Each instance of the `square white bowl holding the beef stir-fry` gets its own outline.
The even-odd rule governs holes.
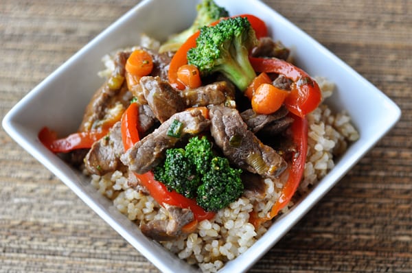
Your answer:
[[[272,248],[393,127],[400,118],[400,108],[328,49],[264,3],[258,0],[216,2],[227,8],[231,15],[251,13],[259,16],[276,40],[281,40],[286,47],[293,49],[292,54],[299,67],[312,76],[320,75],[334,82],[336,91],[328,99],[328,104],[334,110],[347,110],[361,135],[306,198],[279,217],[247,252],[229,261],[220,270],[244,272]],[[165,3],[162,0],[141,1],[21,99],[3,119],[3,128],[159,270],[196,272],[196,269],[142,235],[133,222],[113,207],[111,201],[91,187],[88,178],[49,152],[37,138],[43,126],[49,126],[61,136],[77,130],[85,106],[102,84],[97,72],[103,69],[101,58],[104,54],[138,44],[141,33],[162,40],[168,34],[188,27],[196,16],[197,1],[174,0],[173,5],[168,5],[168,12],[164,12]],[[250,9],[251,6],[253,9]]]

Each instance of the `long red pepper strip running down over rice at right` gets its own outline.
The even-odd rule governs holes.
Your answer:
[[[256,228],[263,222],[273,219],[290,202],[304,175],[306,155],[308,154],[308,121],[296,115],[290,116],[295,119],[291,126],[295,151],[293,152],[292,163],[286,170],[288,171],[288,180],[282,188],[279,199],[273,204],[271,211],[266,217],[259,218],[256,213],[251,213],[249,222]]]

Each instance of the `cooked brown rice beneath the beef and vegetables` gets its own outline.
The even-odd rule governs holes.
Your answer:
[[[323,78],[317,78],[317,82],[323,98],[330,97],[334,85]],[[299,186],[300,193],[316,185],[334,167],[334,156],[343,154],[347,145],[359,137],[346,112],[334,114],[325,104],[321,104],[307,118],[308,157],[304,178]],[[93,175],[91,183],[107,198],[111,198],[113,205],[137,226],[152,219],[168,219],[165,209],[150,195],[128,186],[126,176],[121,171],[105,176]],[[227,261],[235,259],[252,246],[270,226],[271,222],[266,222],[255,230],[249,223],[249,213],[253,207],[260,217],[264,217],[282,189],[281,181],[266,179],[265,183],[268,195],[264,200],[241,197],[218,211],[214,219],[200,222],[196,232],[161,244],[187,263],[198,265],[203,272],[218,271]]]

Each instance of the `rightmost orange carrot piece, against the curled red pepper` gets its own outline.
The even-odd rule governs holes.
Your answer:
[[[252,108],[258,114],[271,114],[282,106],[288,95],[288,91],[279,89],[273,84],[260,84],[253,94]]]

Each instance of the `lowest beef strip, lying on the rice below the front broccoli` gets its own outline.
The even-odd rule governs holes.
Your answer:
[[[168,211],[167,220],[154,219],[140,226],[141,232],[156,241],[169,241],[176,239],[181,233],[181,228],[193,221],[194,215],[190,209],[164,204]]]

